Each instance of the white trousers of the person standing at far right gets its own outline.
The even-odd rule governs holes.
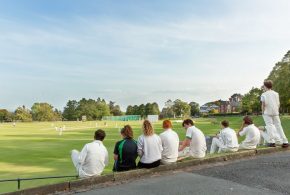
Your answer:
[[[288,143],[288,139],[285,136],[283,127],[281,125],[280,117],[279,116],[270,116],[270,115],[263,115],[267,134],[269,136],[269,143],[275,143],[275,137],[278,135],[279,142]]]

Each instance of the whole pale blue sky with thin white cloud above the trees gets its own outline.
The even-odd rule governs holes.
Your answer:
[[[227,99],[290,49],[289,18],[287,0],[1,0],[0,108]]]

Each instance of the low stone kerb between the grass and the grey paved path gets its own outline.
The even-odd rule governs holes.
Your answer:
[[[197,165],[211,164],[224,162],[228,160],[237,160],[246,157],[263,155],[273,152],[287,151],[290,148],[260,148],[257,150],[244,150],[237,153],[225,153],[219,156],[209,156],[204,159],[184,159],[181,162],[171,164],[171,165],[162,165],[154,169],[136,169],[127,172],[114,173],[109,175],[91,177],[71,182],[63,182],[59,184],[52,184],[48,186],[40,186],[36,188],[30,188],[25,190],[20,190],[16,192],[6,193],[5,195],[33,195],[33,194],[52,194],[56,192],[75,190],[87,186],[103,184],[106,182],[121,182],[134,178],[139,178],[147,175],[152,175],[154,173],[165,172],[165,171],[174,171],[183,169],[186,167],[192,167]]]

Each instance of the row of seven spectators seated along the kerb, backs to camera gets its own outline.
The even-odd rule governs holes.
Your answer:
[[[160,164],[176,163],[186,157],[204,158],[207,145],[204,133],[198,129],[191,119],[183,121],[186,130],[185,139],[180,142],[178,134],[172,130],[170,120],[163,121],[164,131],[158,136],[150,121],[142,124],[143,134],[134,140],[130,125],[124,126],[114,149],[113,171],[128,171],[136,168],[154,168]],[[262,129],[261,129],[262,130]],[[260,143],[260,131],[249,116],[243,118],[241,129],[236,133],[229,127],[229,122],[221,122],[221,131],[212,138],[210,154],[215,152],[237,152],[239,149],[255,149]],[[266,133],[263,131],[263,133]],[[239,145],[238,136],[245,136]],[[84,146],[81,152],[72,151],[72,161],[79,177],[100,175],[108,165],[108,151],[103,145],[106,133],[99,129],[95,132],[94,141]],[[137,158],[140,158],[136,164]]]

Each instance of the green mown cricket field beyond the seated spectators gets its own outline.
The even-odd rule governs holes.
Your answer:
[[[195,119],[196,126],[205,135],[214,135],[220,129],[219,117]],[[242,117],[227,117],[231,127],[238,130]],[[256,125],[263,125],[262,117],[254,117]],[[94,131],[104,129],[107,137],[104,141],[110,155],[110,164],[104,174],[111,173],[113,166],[113,149],[116,141],[120,140],[119,129],[130,124],[134,129],[135,138],[141,134],[141,122],[32,122],[0,123],[0,180],[12,178],[43,177],[75,175],[76,171],[70,159],[72,149],[81,150],[84,144],[91,142]],[[154,124],[156,133],[161,133],[162,122]],[[63,135],[59,136],[55,126],[66,126]],[[181,123],[173,122],[174,130],[180,140],[185,137],[185,130]],[[290,117],[282,117],[282,125],[287,137],[290,137]],[[98,127],[96,127],[98,126]],[[52,184],[68,179],[49,179],[21,182],[21,188],[28,188],[44,184]],[[17,189],[16,182],[0,183],[0,193]]]

